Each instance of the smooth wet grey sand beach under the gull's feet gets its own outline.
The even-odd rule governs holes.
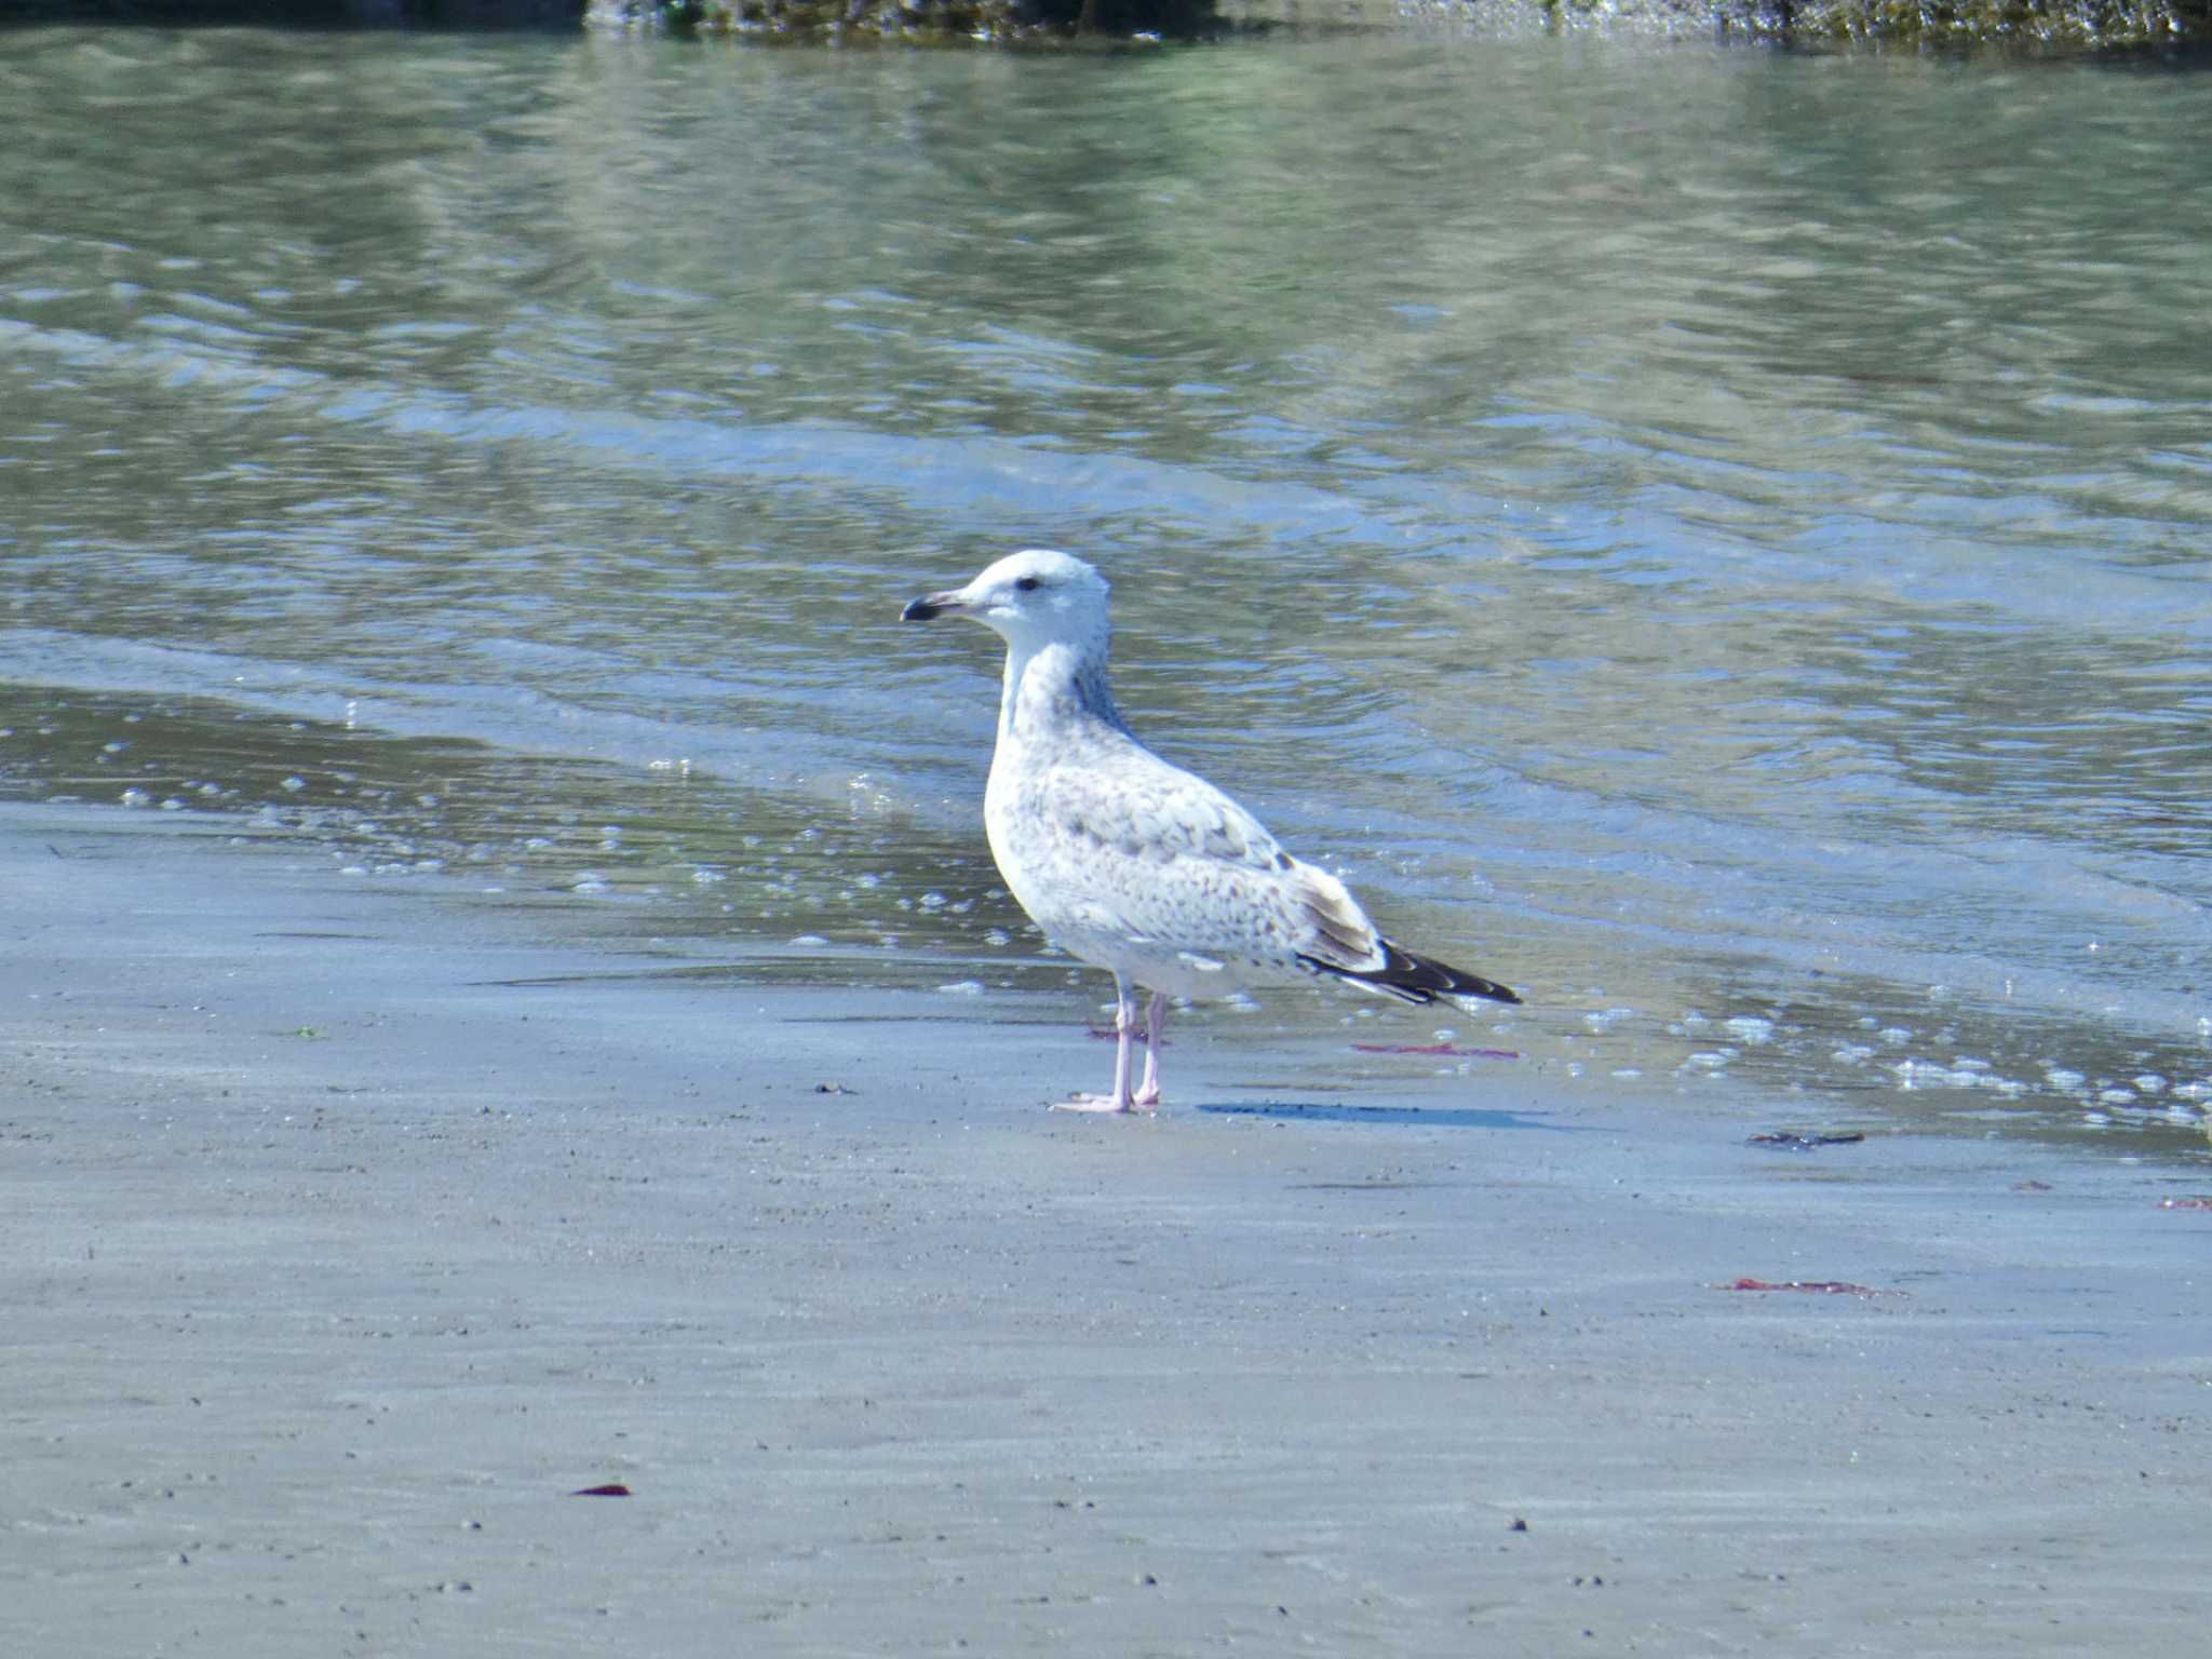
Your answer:
[[[184,814],[4,807],[0,894],[0,1652],[2203,1639],[2188,1170],[1203,1029],[1060,1117],[1091,998],[655,978]]]

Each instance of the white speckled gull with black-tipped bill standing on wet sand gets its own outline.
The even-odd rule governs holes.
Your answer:
[[[1159,1106],[1168,998],[1329,975],[1400,1002],[1520,1002],[1495,980],[1391,945],[1336,876],[1139,743],[1106,688],[1106,595],[1084,560],[1026,549],[900,611],[902,622],[969,617],[1006,641],[982,801],[991,856],[1046,938],[1113,973],[1117,1004],[1113,1093],[1062,1108]],[[1130,1086],[1139,989],[1152,1000],[1144,1079]]]

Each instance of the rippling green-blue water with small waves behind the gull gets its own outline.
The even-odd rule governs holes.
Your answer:
[[[1528,993],[1462,1037],[2201,1146],[2212,80],[55,29],[0,104],[13,792],[1057,987],[896,613],[1060,544],[1139,730]]]

